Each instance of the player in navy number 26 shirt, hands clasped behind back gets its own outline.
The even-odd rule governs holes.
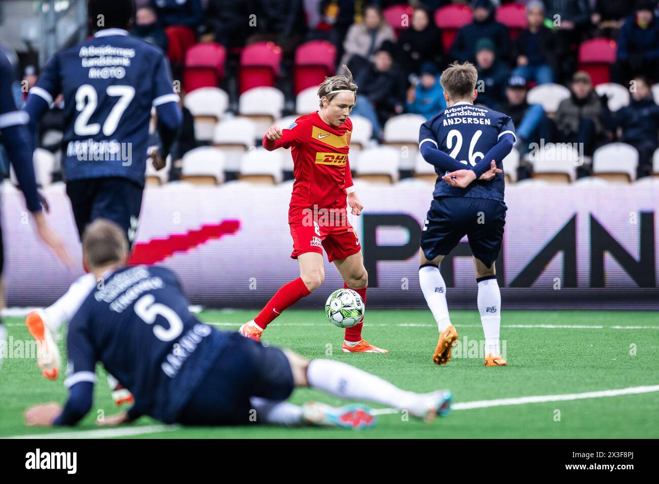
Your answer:
[[[421,233],[418,269],[421,290],[440,331],[433,355],[437,365],[449,362],[458,338],[439,265],[465,235],[474,256],[485,365],[507,365],[499,348],[501,293],[494,261],[501,250],[507,210],[501,161],[515,144],[515,126],[509,116],[473,105],[477,77],[470,63],[454,63],[442,72],[447,109],[419,130],[419,149],[438,173]]]

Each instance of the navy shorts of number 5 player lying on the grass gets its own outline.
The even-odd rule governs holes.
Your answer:
[[[250,398],[286,400],[295,383],[279,348],[235,333],[177,419],[183,425],[241,425],[254,421]],[[252,419],[250,420],[250,417]]]

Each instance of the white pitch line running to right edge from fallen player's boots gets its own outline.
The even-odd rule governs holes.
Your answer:
[[[476,400],[475,402],[458,402],[451,405],[451,410],[471,410],[473,408],[502,407],[544,402],[565,402],[567,400],[585,400],[586,398],[604,398],[605,396],[634,395],[639,393],[659,392],[659,385],[646,387],[629,387],[619,390],[600,390],[596,392],[565,393],[558,395],[520,396],[517,398],[498,398],[497,400]],[[376,415],[398,414],[395,408],[376,408]]]

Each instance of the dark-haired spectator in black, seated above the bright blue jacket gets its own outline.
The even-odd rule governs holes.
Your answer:
[[[398,39],[397,63],[407,75],[419,74],[425,61],[442,65],[442,32],[430,18],[430,13],[416,7],[409,28],[403,30]]]

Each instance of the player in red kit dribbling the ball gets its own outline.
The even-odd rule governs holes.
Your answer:
[[[345,75],[326,78],[318,88],[320,109],[288,126],[271,126],[263,138],[264,148],[291,148],[295,183],[289,207],[293,254],[300,277],[282,286],[260,313],[240,328],[243,336],[260,340],[268,324],[325,279],[323,249],[339,269],[345,288],[355,290],[366,304],[368,275],[355,229],[347,219],[347,205],[360,215],[350,173],[348,151],[353,123],[348,118],[357,99],[357,84],[345,67]],[[345,330],[343,352],[387,353],[362,338],[362,325]]]

